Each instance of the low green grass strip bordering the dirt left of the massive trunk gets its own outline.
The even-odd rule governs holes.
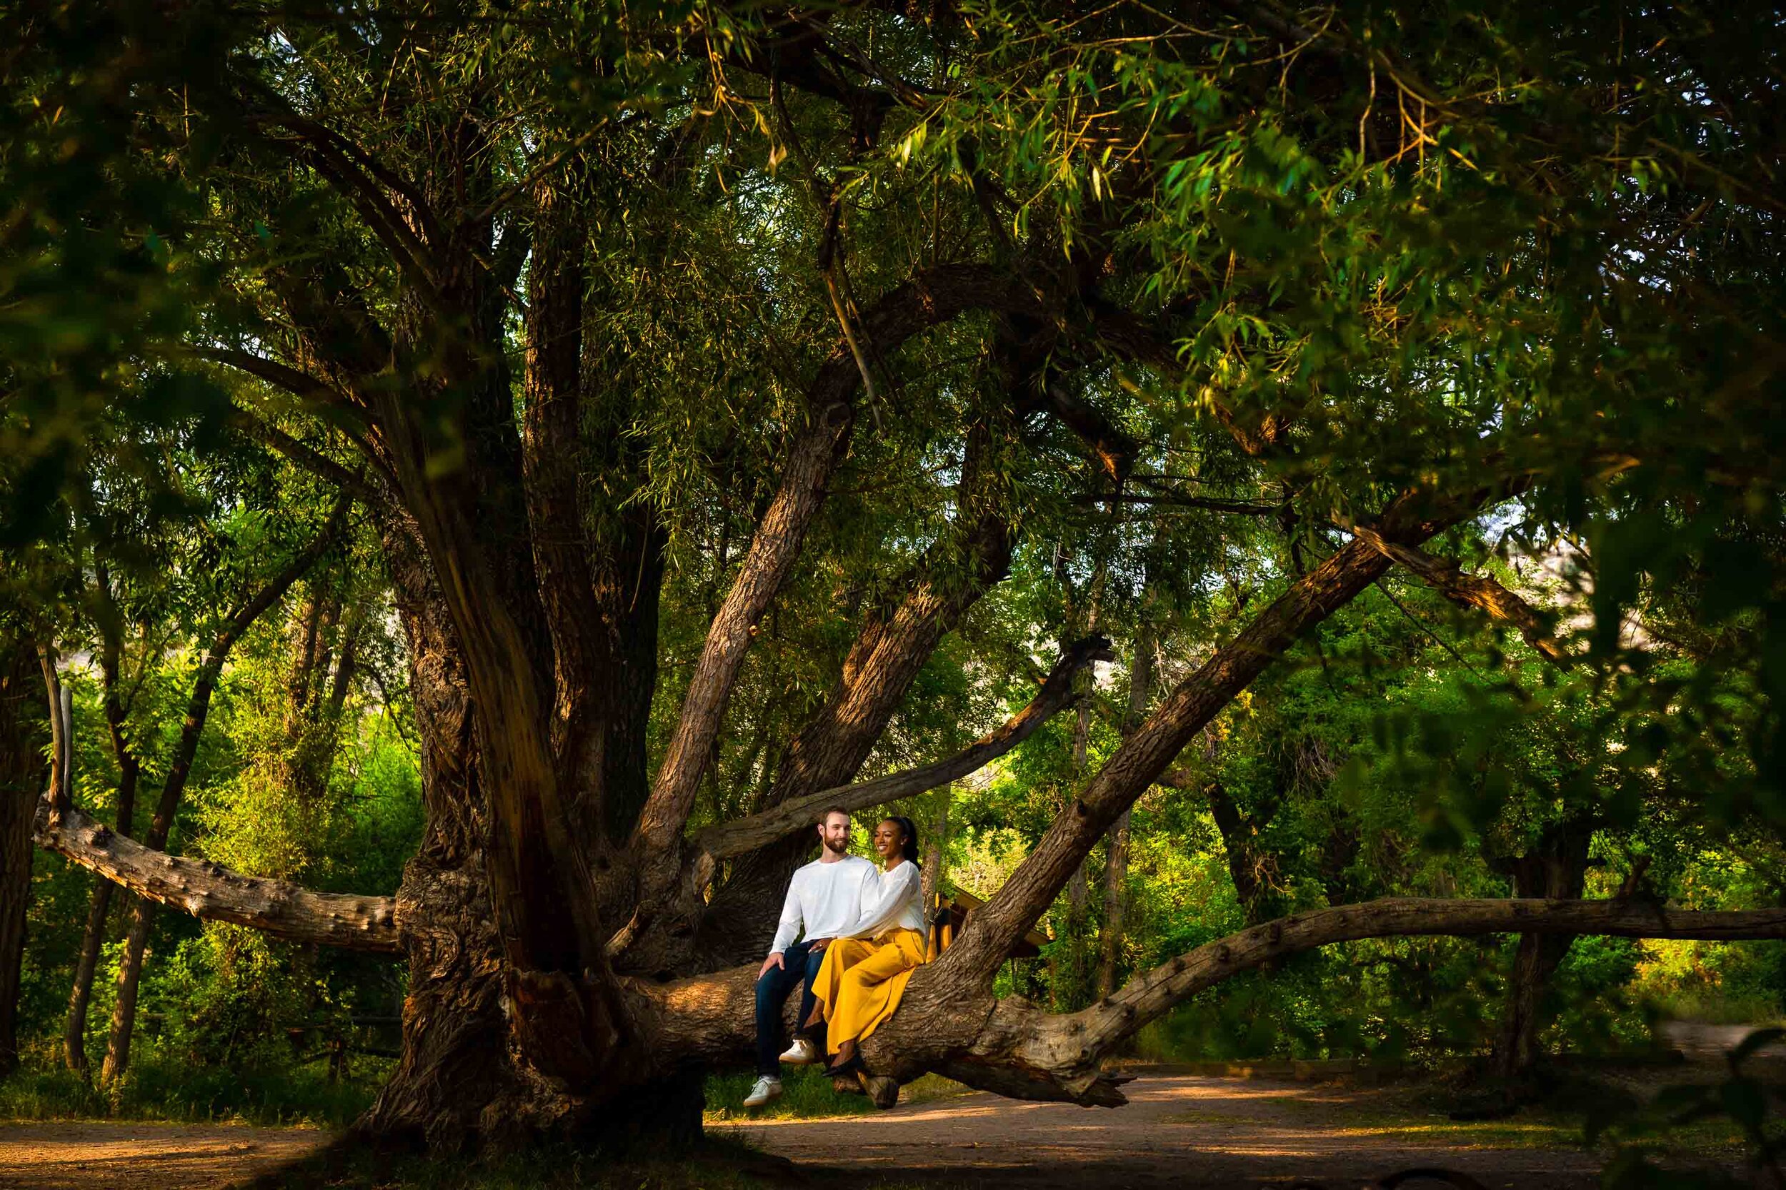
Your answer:
[[[120,1087],[93,1087],[50,1051],[27,1054],[0,1081],[0,1120],[168,1120],[343,1128],[371,1106],[388,1072],[364,1062],[355,1078],[330,1083],[320,1067],[284,1062],[205,1067],[145,1047]]]

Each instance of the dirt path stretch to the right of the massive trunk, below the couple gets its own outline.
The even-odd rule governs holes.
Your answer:
[[[1443,1117],[1409,1128],[1404,1115],[1391,1126],[1386,1115],[1373,1117],[1386,1092],[1189,1076],[1143,1076],[1125,1090],[1131,1103],[1114,1111],[975,1094],[868,1117],[736,1128],[750,1144],[802,1167],[848,1170],[854,1183],[870,1174],[904,1183],[1093,1190],[1309,1179],[1352,1190],[1384,1174],[1438,1165],[1497,1190],[1598,1185],[1600,1158],[1593,1153],[1522,1147],[1556,1145],[1547,1129],[1522,1135],[1509,1126],[1466,1140]],[[1397,1106],[1406,1111],[1406,1101]],[[1422,1131],[1434,1136],[1422,1140]]]

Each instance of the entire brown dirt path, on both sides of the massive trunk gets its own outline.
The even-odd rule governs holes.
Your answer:
[[[1518,1117],[1459,1128],[1416,1088],[1141,1074],[1114,1111],[973,1094],[829,1120],[716,1124],[793,1160],[807,1185],[1141,1190],[1356,1190],[1413,1167],[1481,1185],[1588,1190],[1600,1156]],[[323,1131],[50,1122],[0,1124],[5,1190],[220,1190],[320,1149]],[[1413,1181],[1407,1190],[1441,1183]]]

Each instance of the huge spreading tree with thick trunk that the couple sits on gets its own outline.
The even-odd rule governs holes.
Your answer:
[[[1327,942],[1779,937],[1786,912],[1379,901],[1263,922],[1073,1015],[991,992],[1202,728],[1390,567],[1550,640],[1427,542],[1497,517],[1604,544],[1595,612],[1616,628],[1657,566],[1632,533],[1716,573],[1732,521],[1777,523],[1777,464],[1745,428],[1779,387],[1772,20],[32,11],[5,59],[18,277],[63,293],[113,275],[71,244],[121,244],[154,316],[95,303],[116,332],[80,359],[182,378],[198,421],[261,426],[371,512],[427,805],[393,901],[164,856],[66,801],[38,839],[202,917],[402,951],[373,1133],[695,1129],[697,1072],[748,1047],[738,963],[814,810],[957,780],[1070,705],[1100,639],[1043,657],[982,740],[889,771],[920,673],[1014,560],[1084,537],[1086,508],[1159,503],[1197,517],[1148,530],[1150,574],[1248,567],[1261,594],[913,979],[864,1047],[879,1099],[943,1070],[1120,1103],[1098,1063],[1136,1028]],[[93,193],[20,180],[34,168]],[[132,214],[152,173],[175,191]],[[68,382],[39,330],[18,332],[21,450],[39,478],[79,475],[114,378]],[[18,498],[29,528],[46,498]],[[1766,621],[1770,591],[1723,614]],[[1607,673],[1625,648],[1590,646]],[[800,678],[773,715],[738,698],[764,673]],[[1716,733],[1700,710],[1677,746]],[[745,719],[788,733],[722,821],[714,756]],[[1757,742],[1741,780],[1773,789],[1773,764]]]

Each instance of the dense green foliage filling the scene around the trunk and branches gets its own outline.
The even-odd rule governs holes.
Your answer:
[[[570,211],[575,516],[589,541],[638,517],[663,541],[652,758],[839,335],[950,266],[1041,294],[1045,316],[970,309],[854,351],[857,428],[755,630],[693,826],[764,805],[852,640],[922,580],[961,614],[863,776],[1013,714],[1063,640],[1097,630],[1120,657],[1082,719],[900,806],[989,896],[1259,608],[1402,494],[1468,494],[1431,551],[1523,596],[1572,664],[1391,571],[1134,806],[1116,981],[1306,908],[1507,896],[1565,839],[1586,840],[1588,896],[1779,903],[1770,5],[841,5],[807,21],[827,54],[798,57],[804,20],[73,0],[7,18],[0,632],[63,653],[80,806],[116,822],[107,689],[129,690],[143,826],[220,624],[345,525],[230,653],[170,847],[396,888],[421,771],[386,528],[354,494],[384,482],[363,467],[386,426],[293,310],[398,328],[377,375],[416,394],[418,469],[473,489],[495,448],[464,430],[479,394],[454,369],[477,359],[523,417],[527,300]],[[461,118],[484,173],[448,184],[429,136]],[[398,182],[341,164],[361,150]],[[429,321],[457,293],[418,280],[411,241],[434,232],[380,221],[343,177],[375,178],[393,211],[421,205],[402,178],[461,203],[452,234],[477,239],[466,259],[495,294],[477,319]],[[325,382],[293,391],[266,360]],[[988,537],[1009,555],[993,582]],[[1088,858],[1043,958],[1000,990],[1097,999],[1111,855]],[[21,997],[39,1067],[59,1060],[91,887],[39,856]],[[123,928],[114,913],[95,1044]],[[1134,1047],[1479,1056],[1515,947],[1311,953],[1204,992]],[[150,956],[148,1049],[118,1110],[341,1119],[352,1095],[318,1087],[363,1094],[386,1069],[404,994],[388,960],[175,913]],[[1779,1017],[1786,947],[1577,940],[1548,996],[1547,1047],[1643,1049],[1666,1013]],[[29,1111],[32,1094],[0,1103]]]

